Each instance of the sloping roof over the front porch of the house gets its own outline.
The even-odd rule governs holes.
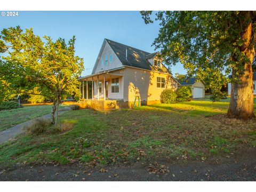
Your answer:
[[[80,77],[78,78],[78,81],[95,81],[97,80],[97,76],[99,78],[99,81],[103,80],[104,76],[105,79],[109,79],[109,78],[115,78],[115,77],[122,77],[123,75],[118,75],[118,74],[113,74],[111,72],[119,70],[119,69],[123,69],[124,67],[119,67],[119,68],[115,68],[113,70],[105,70],[105,71],[100,71],[99,73],[95,73],[95,74],[91,74],[91,75],[87,75],[84,77]]]

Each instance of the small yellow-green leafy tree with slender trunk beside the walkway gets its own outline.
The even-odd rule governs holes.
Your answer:
[[[62,38],[55,42],[49,36],[43,38],[34,35],[32,28],[23,33],[19,26],[10,27],[1,32],[0,50],[6,53],[2,59],[12,63],[10,72],[19,72],[14,78],[22,79],[23,89],[38,87],[37,93],[53,100],[52,124],[56,125],[62,95],[79,94],[77,78],[84,68],[83,59],[75,56],[75,36],[68,44]]]

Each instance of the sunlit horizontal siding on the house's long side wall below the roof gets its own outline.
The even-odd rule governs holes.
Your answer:
[[[156,87],[156,77],[165,77],[165,89],[177,89],[177,82],[171,75],[154,71],[126,67],[124,75],[124,101],[134,101],[135,96],[140,96],[141,101],[160,100],[160,94],[164,88]]]

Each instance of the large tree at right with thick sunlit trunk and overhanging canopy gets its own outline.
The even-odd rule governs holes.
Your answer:
[[[145,23],[151,11],[141,11]],[[153,45],[166,63],[181,62],[219,92],[232,74],[229,117],[253,118],[252,63],[256,11],[159,11],[161,29]]]

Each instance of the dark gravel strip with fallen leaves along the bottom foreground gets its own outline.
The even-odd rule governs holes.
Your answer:
[[[256,181],[256,149],[211,161],[89,168],[85,164],[0,168],[1,181]]]

